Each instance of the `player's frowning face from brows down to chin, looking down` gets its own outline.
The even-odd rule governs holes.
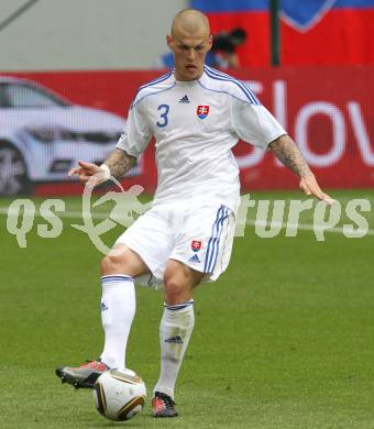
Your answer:
[[[168,35],[167,44],[174,54],[177,80],[196,80],[204,73],[204,63],[211,46],[211,36]]]

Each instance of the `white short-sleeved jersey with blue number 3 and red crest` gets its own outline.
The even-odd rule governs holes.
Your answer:
[[[153,205],[201,199],[237,211],[239,168],[231,148],[239,139],[266,148],[285,133],[248,86],[206,66],[198,80],[177,81],[169,73],[143,85],[117,147],[138,157],[155,136]]]

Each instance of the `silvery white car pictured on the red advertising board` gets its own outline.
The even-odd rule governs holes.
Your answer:
[[[69,180],[78,160],[102,163],[124,124],[116,114],[70,105],[30,80],[0,76],[0,195]]]

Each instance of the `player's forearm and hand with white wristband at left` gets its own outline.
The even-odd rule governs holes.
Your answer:
[[[114,148],[100,167],[92,163],[78,161],[79,166],[72,168],[69,176],[78,176],[82,184],[91,180],[91,184],[95,186],[108,180],[110,176],[116,178],[122,177],[135,164],[136,158],[128,155],[121,148]]]

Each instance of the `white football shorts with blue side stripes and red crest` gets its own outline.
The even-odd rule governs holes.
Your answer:
[[[167,204],[142,215],[116,245],[124,244],[147,265],[152,276],[142,276],[141,283],[160,284],[168,260],[206,273],[209,282],[229,265],[234,230],[235,216],[221,204]]]

